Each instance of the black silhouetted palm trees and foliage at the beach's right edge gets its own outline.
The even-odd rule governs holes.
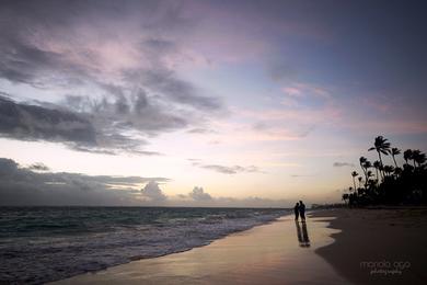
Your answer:
[[[378,160],[371,162],[359,158],[360,173],[353,171],[353,186],[343,194],[343,201],[349,206],[427,204],[427,164],[426,153],[418,149],[392,147],[382,136],[376,137],[373,147]],[[400,166],[396,157],[403,155],[405,163]],[[384,164],[389,157],[391,164]]]

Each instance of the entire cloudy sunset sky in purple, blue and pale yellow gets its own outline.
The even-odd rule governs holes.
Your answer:
[[[339,202],[376,136],[427,150],[426,8],[1,1],[0,204]]]

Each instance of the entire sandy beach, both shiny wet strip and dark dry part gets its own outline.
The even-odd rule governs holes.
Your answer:
[[[423,284],[425,229],[423,209],[319,210],[305,228],[289,215],[201,248],[55,284]],[[385,274],[386,262],[399,269]]]

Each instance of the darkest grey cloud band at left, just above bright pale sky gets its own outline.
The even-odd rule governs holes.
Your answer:
[[[72,101],[74,106],[86,104],[78,96],[68,100]],[[66,110],[54,104],[46,105],[49,107],[18,103],[0,96],[0,136],[23,140],[60,141],[71,149],[93,153],[115,155],[117,151],[127,151],[158,156],[161,153],[141,149],[141,146],[147,144],[142,138],[124,133],[130,127],[159,132],[173,128],[176,121],[180,122],[174,117],[168,121],[166,115],[158,117],[155,110],[147,110],[143,115],[129,114],[123,117],[115,110],[115,103],[108,102],[90,106],[93,112],[95,110],[99,112],[95,116],[93,113]]]

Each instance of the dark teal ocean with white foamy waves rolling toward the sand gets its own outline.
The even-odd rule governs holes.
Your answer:
[[[287,209],[0,207],[0,283],[41,284],[210,243]]]

